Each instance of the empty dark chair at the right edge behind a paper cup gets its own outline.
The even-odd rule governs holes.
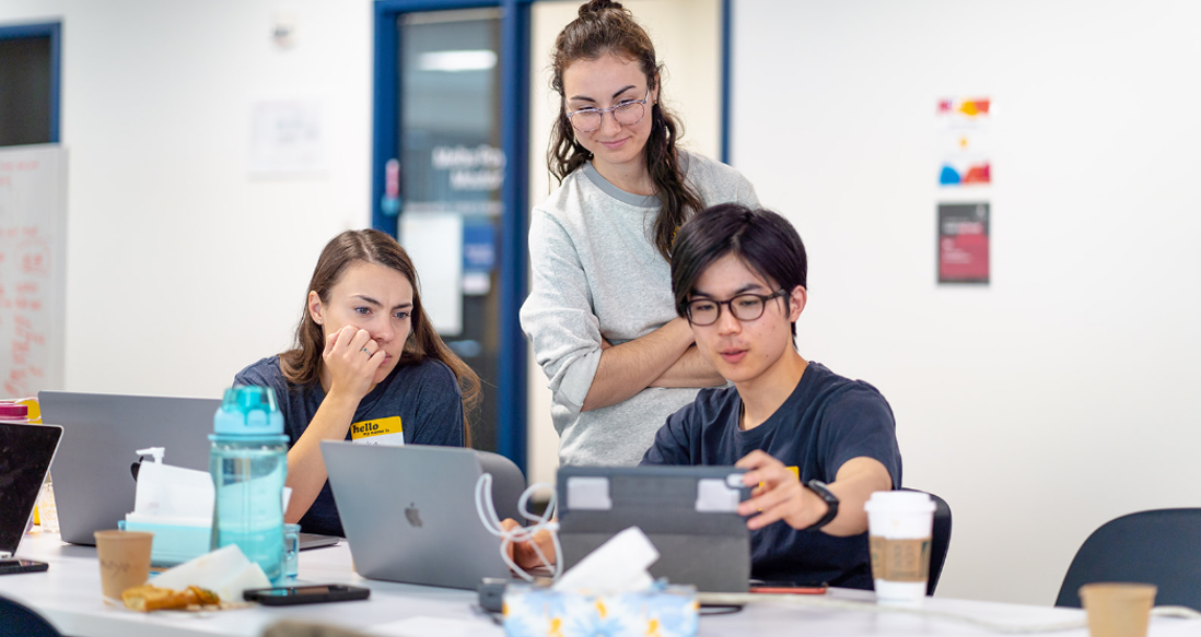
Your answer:
[[[1068,566],[1056,606],[1080,608],[1080,587],[1143,582],[1157,606],[1201,611],[1201,509],[1158,509],[1101,524]]]

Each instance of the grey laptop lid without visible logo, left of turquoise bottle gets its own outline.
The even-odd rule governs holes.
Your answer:
[[[95,545],[133,510],[137,450],[166,449],[163,462],[207,471],[213,415],[220,398],[42,391],[42,422],[62,426],[50,467],[62,540]]]

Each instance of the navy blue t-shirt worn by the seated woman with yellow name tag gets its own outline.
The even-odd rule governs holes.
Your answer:
[[[325,391],[318,381],[309,385],[288,383],[280,369],[279,356],[269,356],[238,372],[234,383],[275,389],[280,411],[283,413],[288,449],[300,439],[325,399]],[[352,422],[393,416],[400,416],[406,445],[464,446],[462,393],[454,372],[441,361],[426,359],[418,365],[398,366],[359,401]],[[346,439],[351,439],[349,431]],[[340,537],[346,535],[329,480],[300,518],[300,529]]]

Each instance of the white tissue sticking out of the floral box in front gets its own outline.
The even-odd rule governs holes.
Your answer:
[[[635,593],[655,583],[646,569],[659,559],[650,537],[631,527],[585,555],[555,582],[556,593]]]

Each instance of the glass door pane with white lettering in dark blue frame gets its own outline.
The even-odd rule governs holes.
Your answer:
[[[422,300],[447,344],[479,374],[476,449],[497,447],[501,350],[498,240],[501,12],[466,8],[396,17],[398,149],[383,208],[422,277]]]

